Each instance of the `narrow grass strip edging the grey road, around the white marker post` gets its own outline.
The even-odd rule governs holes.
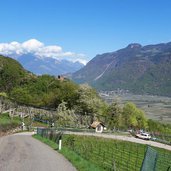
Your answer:
[[[58,149],[57,144],[47,138],[43,138],[40,135],[33,135],[33,137],[49,145],[54,150]],[[58,152],[65,156],[65,158],[67,158],[79,171],[103,171],[102,168],[92,164],[90,161],[85,160],[80,155],[66,147],[62,147],[62,150]]]

